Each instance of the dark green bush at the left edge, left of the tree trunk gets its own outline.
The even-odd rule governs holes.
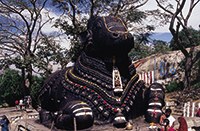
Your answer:
[[[15,104],[15,100],[23,98],[21,76],[19,71],[7,69],[0,83],[0,104]]]

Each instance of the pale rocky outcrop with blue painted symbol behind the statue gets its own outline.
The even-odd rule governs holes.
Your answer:
[[[187,50],[189,51],[189,48]],[[195,50],[200,50],[200,46],[195,47]],[[153,71],[156,60],[155,81],[165,85],[174,80],[183,80],[184,71],[180,68],[180,62],[184,58],[183,53],[178,50],[154,54],[145,59],[134,61],[133,63],[138,65],[136,66],[137,74],[142,74]]]

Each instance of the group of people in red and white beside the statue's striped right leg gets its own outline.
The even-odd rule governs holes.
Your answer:
[[[161,131],[188,131],[187,122],[184,117],[178,117],[179,128],[174,129],[175,118],[171,115],[171,109],[166,109],[165,114],[160,117]]]

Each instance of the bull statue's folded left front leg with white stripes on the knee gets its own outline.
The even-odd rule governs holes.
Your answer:
[[[67,103],[55,118],[56,127],[68,130],[73,130],[74,124],[78,130],[89,128],[93,125],[93,122],[92,109],[88,104],[81,101]]]

